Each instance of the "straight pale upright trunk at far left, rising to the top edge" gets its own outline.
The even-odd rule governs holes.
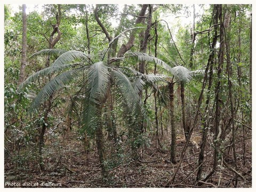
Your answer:
[[[26,5],[22,5],[22,47],[21,47],[21,66],[18,85],[25,80],[25,67],[27,63],[27,14]]]

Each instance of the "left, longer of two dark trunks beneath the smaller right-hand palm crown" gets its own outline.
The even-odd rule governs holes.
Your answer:
[[[176,127],[175,127],[175,115],[174,115],[174,83],[169,83],[169,99],[170,99],[170,117],[171,117],[171,162],[176,163]]]

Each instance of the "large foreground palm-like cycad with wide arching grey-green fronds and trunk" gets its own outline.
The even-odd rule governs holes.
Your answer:
[[[74,83],[78,86],[78,91],[74,95],[71,111],[81,110],[81,132],[87,133],[90,137],[96,135],[96,143],[99,155],[99,162],[102,175],[107,173],[104,165],[103,134],[102,134],[102,108],[107,100],[109,92],[115,94],[115,102],[122,108],[122,117],[125,125],[131,126],[135,123],[134,117],[143,114],[142,102],[139,92],[143,86],[154,84],[157,81],[165,81],[164,75],[145,75],[127,67],[116,67],[113,63],[125,61],[147,61],[154,62],[172,71],[164,61],[159,60],[146,53],[127,52],[121,58],[111,58],[107,61],[103,57],[92,57],[80,51],[63,50],[42,50],[33,56],[40,54],[57,54],[59,57],[50,67],[42,69],[31,75],[23,82],[19,89],[28,83],[35,81],[39,77],[51,75],[53,78],[45,84],[43,89],[37,94],[30,106],[31,112],[38,111],[39,107],[53,93],[60,90],[66,84]],[[55,76],[54,76],[55,75]],[[156,89],[156,86],[151,86]]]

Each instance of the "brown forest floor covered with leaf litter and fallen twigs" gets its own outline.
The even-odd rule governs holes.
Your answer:
[[[5,159],[5,187],[76,187],[76,188],[108,188],[108,187],[221,187],[235,186],[234,160],[230,155],[223,156],[228,166],[218,162],[217,169],[204,183],[196,185],[199,146],[193,141],[189,143],[180,169],[173,182],[170,179],[177,169],[172,164],[170,151],[160,151],[155,145],[143,149],[137,161],[126,159],[125,163],[109,169],[108,178],[102,179],[97,150],[86,153],[81,141],[75,140],[74,135],[66,135],[57,145],[47,141],[47,155],[45,155],[45,170],[39,170],[35,161],[27,162],[25,167],[17,168],[13,161]],[[246,145],[251,145],[247,140]],[[177,160],[185,145],[183,138],[177,139]],[[252,154],[251,151],[243,153],[243,146],[237,147],[237,187],[252,187]],[[212,171],[213,151],[206,145],[205,163],[202,177]],[[221,161],[221,160],[220,160]],[[232,170],[233,169],[233,170]]]

